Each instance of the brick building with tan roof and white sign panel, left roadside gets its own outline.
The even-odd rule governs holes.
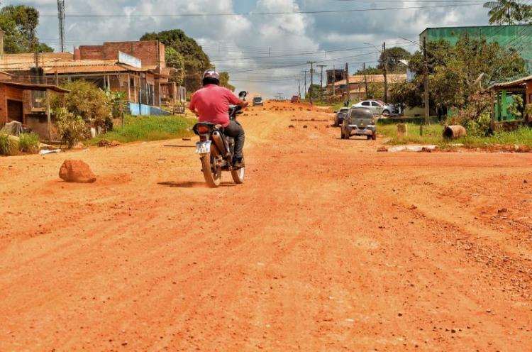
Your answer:
[[[166,67],[165,45],[157,40],[82,45],[74,53],[6,54],[0,57],[0,70],[17,82],[55,84],[85,80],[101,89],[124,92],[131,113],[158,114],[163,105],[184,99]],[[38,106],[34,94],[33,109]]]

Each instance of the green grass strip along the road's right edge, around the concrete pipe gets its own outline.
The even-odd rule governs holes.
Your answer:
[[[501,131],[493,136],[477,137],[467,136],[453,141],[445,141],[442,136],[443,126],[438,124],[423,126],[423,136],[420,134],[419,124],[406,123],[408,136],[397,137],[397,124],[379,124],[377,133],[389,138],[387,144],[433,144],[440,148],[453,148],[456,144],[462,144],[465,148],[485,148],[494,145],[519,145],[532,147],[532,128],[521,127],[516,131]]]

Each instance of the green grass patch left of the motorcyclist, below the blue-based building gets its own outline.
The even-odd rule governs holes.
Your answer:
[[[120,125],[114,126],[113,131],[96,136],[88,143],[95,145],[103,139],[130,143],[189,137],[194,135],[189,128],[196,122],[196,119],[182,116],[126,116],[124,128]]]

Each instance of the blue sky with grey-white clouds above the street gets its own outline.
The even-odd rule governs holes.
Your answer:
[[[180,28],[195,38],[218,70],[230,72],[238,89],[287,97],[297,92],[296,79],[308,70],[309,60],[322,61],[326,68],[351,71],[375,65],[378,53],[372,46],[394,45],[416,50],[404,40],[418,40],[426,27],[487,24],[482,1],[474,6],[432,9],[384,8],[449,5],[423,1],[345,0],[66,0],[67,49],[74,45],[113,40],[138,40],[145,32]],[[466,1],[461,1],[466,2]],[[13,0],[2,4],[27,4],[43,15],[38,35],[43,43],[58,48],[57,1]],[[455,3],[454,3],[455,4]],[[175,13],[249,13],[339,9],[374,9],[343,13],[297,13],[275,16],[161,17]],[[79,18],[72,14],[120,14],[119,17]],[[131,17],[130,14],[150,15]],[[48,15],[48,16],[46,16]],[[331,50],[342,50],[331,52]],[[310,77],[307,76],[310,80]],[[315,82],[319,77],[314,77]]]

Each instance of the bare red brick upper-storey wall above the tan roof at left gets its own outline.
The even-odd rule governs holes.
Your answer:
[[[118,60],[118,51],[138,57],[143,66],[165,67],[165,45],[157,40],[82,45],[79,47],[79,57],[81,60]]]

